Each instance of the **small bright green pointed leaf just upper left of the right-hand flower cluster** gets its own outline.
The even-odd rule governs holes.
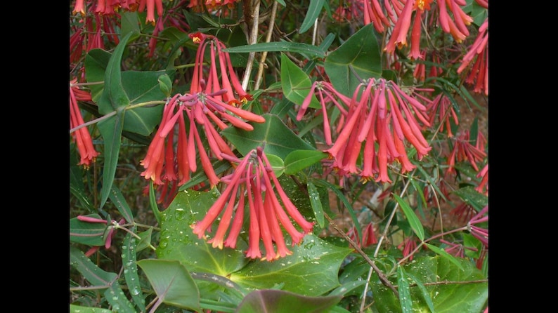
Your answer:
[[[283,95],[296,105],[302,105],[306,96],[310,93],[312,81],[309,76],[292,62],[285,53],[281,53],[281,88]],[[320,109],[321,105],[312,95],[310,107]]]

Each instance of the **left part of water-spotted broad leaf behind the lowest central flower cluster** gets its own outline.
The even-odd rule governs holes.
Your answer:
[[[157,258],[179,260],[191,272],[207,272],[228,277],[246,265],[244,252],[247,244],[239,240],[237,248],[213,248],[204,239],[193,234],[192,227],[202,220],[207,210],[219,197],[216,189],[197,192],[186,189],[179,192],[170,206],[161,213],[160,243]],[[214,231],[216,227],[213,227]]]

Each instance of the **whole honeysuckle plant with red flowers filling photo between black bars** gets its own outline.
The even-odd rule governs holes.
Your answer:
[[[487,0],[69,12],[70,312],[488,312]]]

